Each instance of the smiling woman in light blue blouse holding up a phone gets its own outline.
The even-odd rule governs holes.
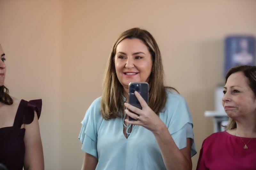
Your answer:
[[[142,109],[127,103],[130,82],[149,84],[148,104],[134,92]],[[164,86],[160,50],[146,30],[132,28],[117,38],[102,97],[93,101],[81,123],[82,169],[192,169],[191,115],[184,98]]]

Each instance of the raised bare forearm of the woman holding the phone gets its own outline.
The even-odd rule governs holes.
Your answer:
[[[181,150],[175,144],[171,134],[169,133],[164,123],[158,126],[156,131],[153,131],[153,134],[156,137],[156,141],[161,151],[166,169],[168,170],[192,169],[190,154],[189,154],[189,158],[186,158],[186,156],[181,152]],[[189,153],[190,153],[190,149],[189,149]]]

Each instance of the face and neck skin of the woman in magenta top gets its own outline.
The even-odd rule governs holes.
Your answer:
[[[227,115],[236,121],[236,129],[228,133],[241,137],[256,137],[256,100],[243,72],[235,72],[228,77],[223,89],[222,105]]]

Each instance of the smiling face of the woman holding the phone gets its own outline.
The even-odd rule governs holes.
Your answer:
[[[117,45],[116,75],[125,92],[130,82],[148,82],[152,64],[148,48],[140,39],[126,38]]]

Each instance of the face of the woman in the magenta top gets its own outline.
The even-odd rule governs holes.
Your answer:
[[[247,82],[248,78],[239,71],[228,77],[224,87],[222,105],[227,115],[236,121],[256,117],[256,100]]]

